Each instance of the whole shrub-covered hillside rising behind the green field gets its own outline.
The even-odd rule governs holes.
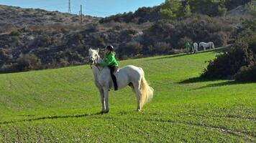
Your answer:
[[[165,1],[134,13],[85,16],[81,25],[73,14],[0,6],[0,73],[85,64],[88,48],[107,44],[119,59],[182,53],[187,41],[232,44],[250,16],[226,11],[247,2]]]

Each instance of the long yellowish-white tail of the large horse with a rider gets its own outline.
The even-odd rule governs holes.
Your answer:
[[[147,80],[145,79],[145,74],[142,68],[140,68],[142,71],[142,80],[140,82],[140,92],[141,92],[141,107],[143,107],[144,104],[147,102],[150,102],[150,100],[153,97],[154,89],[150,87],[149,84],[147,84]]]

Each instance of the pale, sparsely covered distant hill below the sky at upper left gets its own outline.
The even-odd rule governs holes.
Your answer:
[[[100,18],[85,16],[84,23],[96,23]],[[61,13],[58,11],[45,11],[42,9],[22,9],[16,6],[0,5],[0,30],[13,27],[45,26],[52,24],[79,26],[80,17],[76,14]]]

